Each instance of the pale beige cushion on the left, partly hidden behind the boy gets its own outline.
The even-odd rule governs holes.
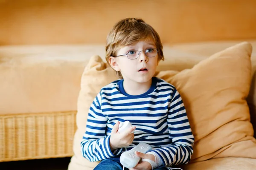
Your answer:
[[[77,131],[74,137],[74,156],[69,170],[87,170],[98,162],[90,162],[81,155],[80,142],[85,132],[88,111],[99,90],[108,82],[116,80],[116,73],[99,56],[90,59],[81,78],[81,90],[77,104]]]

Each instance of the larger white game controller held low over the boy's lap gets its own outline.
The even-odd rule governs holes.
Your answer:
[[[152,149],[152,147],[149,144],[140,142],[137,146],[135,146],[131,150],[128,150],[121,154],[120,163],[124,167],[133,168],[139,163],[139,161],[141,159],[139,156],[137,156],[135,154],[135,151],[138,151],[141,153],[147,153],[151,149]]]

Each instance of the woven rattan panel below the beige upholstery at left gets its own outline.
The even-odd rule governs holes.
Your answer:
[[[73,155],[76,111],[0,115],[0,162]]]

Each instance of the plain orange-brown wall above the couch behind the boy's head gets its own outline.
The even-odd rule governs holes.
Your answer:
[[[0,0],[0,45],[105,43],[124,17],[163,43],[256,38],[256,0]]]

